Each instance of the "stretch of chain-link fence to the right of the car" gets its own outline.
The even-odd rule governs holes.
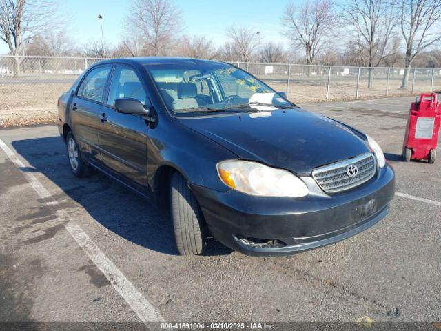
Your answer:
[[[441,68],[366,68],[283,63],[234,63],[286,92],[296,103],[369,99],[441,91]],[[403,77],[409,70],[407,88]]]

